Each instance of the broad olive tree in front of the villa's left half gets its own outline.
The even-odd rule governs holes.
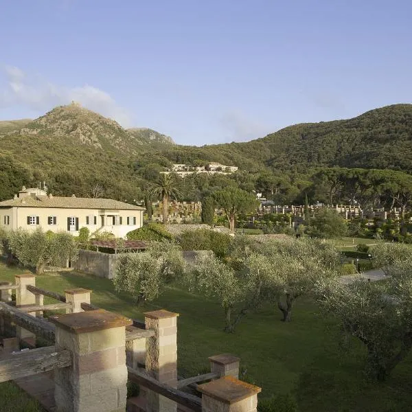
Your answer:
[[[35,267],[36,275],[41,275],[45,266],[60,266],[68,259],[75,260],[78,255],[76,242],[70,233],[44,232],[41,229],[9,232],[8,247],[21,264]]]

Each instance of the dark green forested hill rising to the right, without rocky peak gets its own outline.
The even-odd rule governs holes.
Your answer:
[[[218,161],[244,170],[341,166],[412,172],[412,104],[394,104],[353,119],[289,126],[261,139],[194,148],[173,146],[176,163]]]

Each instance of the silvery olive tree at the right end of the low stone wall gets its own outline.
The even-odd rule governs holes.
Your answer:
[[[137,304],[156,299],[166,284],[185,271],[181,249],[172,242],[152,242],[148,251],[119,255],[113,283]]]

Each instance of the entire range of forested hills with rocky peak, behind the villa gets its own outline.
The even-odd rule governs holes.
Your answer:
[[[354,201],[360,198],[354,195],[355,186],[364,188],[364,197],[371,185],[387,190],[378,172],[363,169],[412,172],[412,105],[386,106],[354,119],[297,124],[246,143],[195,147],[175,145],[170,137],[148,128],[126,130],[70,104],[33,121],[0,122],[0,148],[0,200],[12,197],[23,184],[46,181],[56,195],[134,201],[142,199],[148,184],[172,163],[215,161],[237,165],[240,172],[183,179],[185,200],[236,185],[262,191],[279,203],[300,203],[306,197]],[[354,168],[357,171],[351,174]],[[339,176],[335,189],[333,176]],[[385,179],[409,182],[409,176],[393,176]]]

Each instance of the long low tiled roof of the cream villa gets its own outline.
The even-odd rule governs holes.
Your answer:
[[[144,207],[129,205],[128,203],[102,198],[76,198],[47,196],[25,196],[0,202],[0,207],[58,207],[64,209],[117,209],[117,210],[144,210]]]

